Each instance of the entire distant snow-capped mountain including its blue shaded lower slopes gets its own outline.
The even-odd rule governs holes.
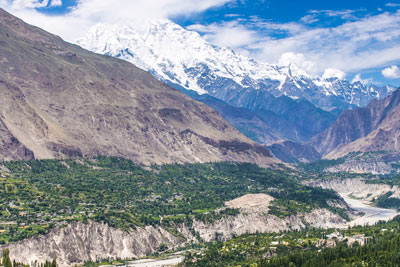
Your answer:
[[[216,109],[263,145],[278,140],[307,142],[327,130],[343,110],[366,106],[394,90],[313,76],[295,64],[259,62],[212,45],[170,20],[135,26],[99,24],[76,43],[149,71]]]

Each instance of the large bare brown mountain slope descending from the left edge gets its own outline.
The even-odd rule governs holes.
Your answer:
[[[206,105],[4,10],[0,44],[2,159],[104,154],[143,164],[276,162]]]

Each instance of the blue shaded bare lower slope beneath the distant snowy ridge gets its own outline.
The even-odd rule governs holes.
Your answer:
[[[329,128],[336,119],[334,114],[316,108],[308,101],[295,101],[286,96],[274,97],[267,93],[258,101],[249,100],[250,106],[239,107],[235,102],[227,104],[208,94],[183,92],[212,107],[236,129],[263,145],[278,140],[308,141]],[[254,98],[260,92],[253,93],[248,97]]]

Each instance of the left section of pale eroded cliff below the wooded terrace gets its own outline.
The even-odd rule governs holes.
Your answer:
[[[187,229],[178,230],[187,240],[193,240]],[[47,235],[3,247],[8,247],[11,258],[19,262],[40,263],[57,258],[57,263],[63,267],[97,259],[142,257],[158,251],[161,244],[172,248],[184,242],[186,240],[182,241],[161,227],[147,226],[128,233],[89,222],[74,223],[54,229]]]

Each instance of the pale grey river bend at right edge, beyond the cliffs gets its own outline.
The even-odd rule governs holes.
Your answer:
[[[363,202],[360,199],[351,198],[349,195],[346,194],[340,194],[340,196],[351,208],[364,213],[363,216],[352,220],[349,223],[350,226],[373,225],[381,220],[389,221],[399,214],[396,210],[377,208],[372,206],[368,202]]]

